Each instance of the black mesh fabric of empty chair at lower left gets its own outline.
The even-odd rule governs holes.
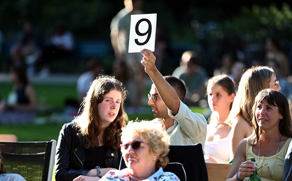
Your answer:
[[[27,181],[48,179],[52,142],[0,142],[3,171]]]

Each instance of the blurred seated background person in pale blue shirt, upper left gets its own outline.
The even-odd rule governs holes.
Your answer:
[[[42,56],[39,58],[41,71],[40,77],[48,76],[51,61],[56,58],[65,58],[73,53],[74,39],[62,22],[56,22],[54,34],[51,37],[50,45],[44,48]]]

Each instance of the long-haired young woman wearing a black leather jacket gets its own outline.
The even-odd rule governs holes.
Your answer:
[[[99,180],[121,160],[121,128],[126,93],[114,77],[95,79],[82,113],[60,131],[55,156],[56,181]]]

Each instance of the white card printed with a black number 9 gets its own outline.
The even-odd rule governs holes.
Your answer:
[[[154,52],[156,15],[131,15],[129,53],[140,52],[143,48]]]

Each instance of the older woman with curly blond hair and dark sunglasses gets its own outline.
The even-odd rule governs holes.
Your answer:
[[[121,151],[127,168],[110,170],[100,180],[111,181],[178,181],[171,172],[164,172],[168,163],[169,136],[150,121],[130,122],[123,128]]]

